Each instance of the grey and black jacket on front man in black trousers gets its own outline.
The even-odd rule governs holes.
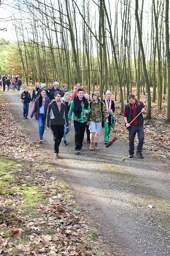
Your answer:
[[[56,101],[52,100],[47,109],[46,126],[64,125],[65,123],[66,126],[69,126],[67,107],[65,103],[61,100],[61,105],[58,108]]]

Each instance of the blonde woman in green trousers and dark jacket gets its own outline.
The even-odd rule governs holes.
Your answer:
[[[105,119],[103,118],[103,123],[104,123],[104,132],[105,132],[105,135],[104,135],[104,141],[105,141],[105,144],[108,143],[109,141],[109,135],[110,135],[110,130],[111,130],[111,127],[114,129],[115,127],[115,117],[113,115],[113,113],[115,112],[115,103],[113,100],[111,100],[111,97],[112,97],[112,93],[108,90],[106,92],[106,98],[105,100],[103,100],[103,102],[105,103],[106,105],[106,108],[107,108],[107,116],[108,116],[108,123],[106,124],[105,122]]]

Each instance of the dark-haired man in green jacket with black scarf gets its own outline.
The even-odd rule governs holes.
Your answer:
[[[87,123],[87,115],[90,114],[89,103],[84,97],[83,89],[78,89],[78,96],[71,102],[69,111],[69,124],[73,113],[74,130],[75,130],[75,149],[76,153],[83,151],[84,133]]]

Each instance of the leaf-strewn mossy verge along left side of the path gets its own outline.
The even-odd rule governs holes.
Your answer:
[[[15,123],[1,95],[0,108],[0,254],[110,255],[59,168],[41,161],[44,152]]]

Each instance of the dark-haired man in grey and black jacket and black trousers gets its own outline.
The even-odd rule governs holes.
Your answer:
[[[64,124],[66,128],[69,127],[67,107],[63,100],[61,100],[61,92],[55,93],[55,100],[52,100],[48,105],[46,126],[47,129],[51,128],[54,137],[54,157],[58,158],[60,142],[64,135]]]

